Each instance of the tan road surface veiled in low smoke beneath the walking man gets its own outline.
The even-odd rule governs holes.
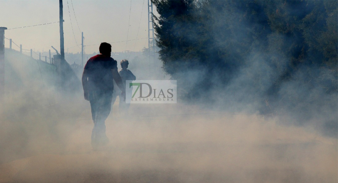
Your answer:
[[[191,106],[134,105],[121,118],[116,106],[105,150],[91,150],[86,108],[30,138],[29,156],[0,165],[0,183],[337,182],[337,139],[311,129]]]

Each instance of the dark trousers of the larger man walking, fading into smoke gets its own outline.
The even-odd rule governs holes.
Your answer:
[[[95,91],[89,93],[89,101],[94,121],[94,128],[92,131],[93,146],[105,145],[108,142],[104,121],[111,111],[112,96],[112,92]]]

